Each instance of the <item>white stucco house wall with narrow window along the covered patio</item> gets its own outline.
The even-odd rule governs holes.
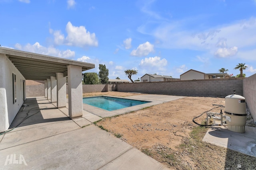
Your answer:
[[[25,78],[4,54],[0,54],[0,132],[6,131],[24,102]],[[12,73],[16,75],[16,102],[13,104]],[[25,85],[25,83],[24,83]],[[26,99],[26,92],[24,92]]]

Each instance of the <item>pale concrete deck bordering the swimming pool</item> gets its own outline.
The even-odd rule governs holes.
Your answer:
[[[99,117],[112,117],[112,116],[116,116],[116,115],[120,115],[120,114],[124,114],[124,113],[128,113],[131,111],[136,111],[136,110],[140,110],[146,107],[150,107],[150,106],[155,106],[161,103],[165,103],[165,102],[170,102],[172,100],[176,100],[179,98],[184,98],[185,96],[175,96],[174,99],[167,99],[167,100],[163,100],[164,97],[170,97],[170,95],[155,95],[155,94],[151,94],[151,95],[136,95],[136,96],[127,96],[127,97],[119,97],[119,96],[108,96],[108,95],[99,95],[99,96],[107,96],[107,97],[113,97],[113,98],[122,98],[122,99],[132,99],[132,100],[140,100],[140,101],[146,101],[149,103],[146,104],[140,104],[140,105],[136,105],[136,106],[130,106],[130,107],[125,107],[123,109],[116,109],[116,110],[112,110],[112,111],[108,111],[105,109],[101,109],[99,107],[95,107],[95,106],[91,106],[88,104],[84,104],[83,103],[83,109],[84,111],[87,111],[89,113],[92,113],[94,115],[97,115]],[[160,96],[161,100],[158,99],[158,97]],[[96,96],[88,96],[88,97],[96,97]],[[84,97],[87,98],[87,97]],[[151,100],[149,100],[148,98],[151,98]]]

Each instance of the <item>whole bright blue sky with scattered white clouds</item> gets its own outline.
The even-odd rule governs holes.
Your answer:
[[[0,0],[0,45],[180,78],[190,70],[256,73],[256,0]]]

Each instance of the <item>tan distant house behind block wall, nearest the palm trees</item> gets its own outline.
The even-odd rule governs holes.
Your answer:
[[[188,70],[183,74],[180,74],[180,80],[203,80],[212,78],[231,78],[230,74],[224,73],[204,73],[196,70]]]

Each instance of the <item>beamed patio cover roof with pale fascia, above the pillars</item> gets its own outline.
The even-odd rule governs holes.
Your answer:
[[[26,80],[46,80],[47,78],[50,78],[50,76],[56,76],[57,72],[64,73],[64,76],[67,76],[68,65],[81,66],[82,71],[95,68],[95,65],[91,63],[84,63],[36,53],[28,53],[2,47],[0,47],[0,53],[6,54],[6,57],[8,57]]]

